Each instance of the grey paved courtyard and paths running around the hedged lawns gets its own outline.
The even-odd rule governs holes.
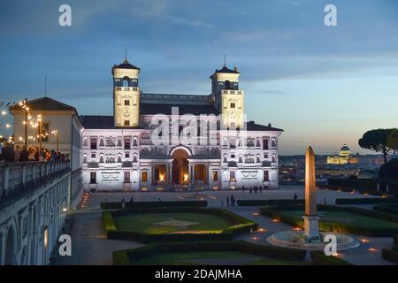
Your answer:
[[[220,207],[221,202],[224,202],[226,207],[226,196],[231,195],[237,200],[243,199],[293,199],[296,194],[299,199],[304,197],[304,188],[300,186],[281,187],[275,191],[263,191],[261,194],[249,194],[248,191],[205,191],[198,195],[195,193],[96,193],[91,194],[88,205],[85,210],[76,210],[72,217],[73,229],[73,256],[57,257],[53,264],[111,264],[112,251],[119,249],[130,249],[141,247],[142,244],[134,241],[117,241],[107,240],[103,230],[103,223],[101,217],[101,210],[99,210],[100,203],[104,201],[119,202],[122,198],[126,201],[134,197],[135,202],[140,201],[157,201],[161,198],[162,201],[176,201],[176,200],[197,200],[206,199],[210,207]],[[330,190],[318,190],[318,203],[334,204],[336,198],[346,197],[369,197],[364,195],[350,195],[348,193],[336,192]],[[370,209],[371,206],[364,206]],[[281,222],[274,222],[272,218],[258,216],[255,214],[259,207],[229,207],[228,210],[249,219],[255,220],[259,227],[264,228],[264,232],[255,232],[243,234],[236,238],[236,240],[252,241],[257,244],[268,243],[265,239],[272,233],[292,230],[295,227],[287,226]],[[351,235],[356,240],[360,241],[363,238],[356,235]],[[381,258],[381,249],[390,248],[393,244],[392,238],[369,238],[366,244],[361,243],[361,246],[356,249],[345,250],[341,252],[343,259],[352,264],[391,264]],[[376,252],[369,252],[369,248],[376,249]]]

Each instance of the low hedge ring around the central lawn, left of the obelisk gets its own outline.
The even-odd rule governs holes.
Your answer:
[[[132,231],[119,230],[114,225],[113,217],[124,216],[131,213],[163,213],[163,212],[196,212],[217,215],[233,222],[222,233],[162,233],[149,234]],[[136,208],[129,210],[103,211],[103,223],[108,239],[131,240],[141,242],[153,241],[226,241],[233,239],[234,236],[241,233],[247,233],[256,230],[257,224],[247,218],[243,218],[229,210],[207,209],[207,208]]]

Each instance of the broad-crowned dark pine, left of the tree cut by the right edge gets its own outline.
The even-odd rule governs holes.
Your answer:
[[[384,164],[387,164],[387,155],[391,149],[387,145],[387,137],[394,129],[377,129],[366,132],[358,144],[363,149],[371,149],[381,152],[384,156]]]

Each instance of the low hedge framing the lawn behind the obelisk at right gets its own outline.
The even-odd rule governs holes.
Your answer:
[[[334,211],[350,212],[372,218],[379,218],[387,221],[398,222],[398,216],[378,211],[363,210],[356,207],[343,207],[343,206],[324,205],[324,204],[318,204],[317,207],[318,210],[334,210]],[[261,208],[260,213],[271,218],[277,218],[280,221],[287,223],[291,226],[299,226],[299,227],[303,226],[302,218],[283,215],[279,212],[280,210],[302,210],[302,206],[300,205],[274,206],[269,208]],[[318,226],[319,230],[321,231],[332,231],[335,233],[355,233],[371,237],[387,237],[387,236],[392,236],[395,233],[398,233],[397,228],[387,227],[387,228],[372,229],[372,228],[365,228],[362,226],[353,226],[348,223],[337,223],[337,222],[319,222]]]

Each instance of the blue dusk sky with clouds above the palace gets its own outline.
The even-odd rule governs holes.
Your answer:
[[[58,25],[61,4],[72,27]],[[325,27],[325,4],[337,27]],[[1,100],[43,96],[47,73],[51,98],[111,115],[111,66],[125,49],[146,93],[208,95],[226,54],[248,119],[285,130],[281,155],[342,143],[369,153],[357,145],[366,130],[398,126],[394,0],[1,1]]]

